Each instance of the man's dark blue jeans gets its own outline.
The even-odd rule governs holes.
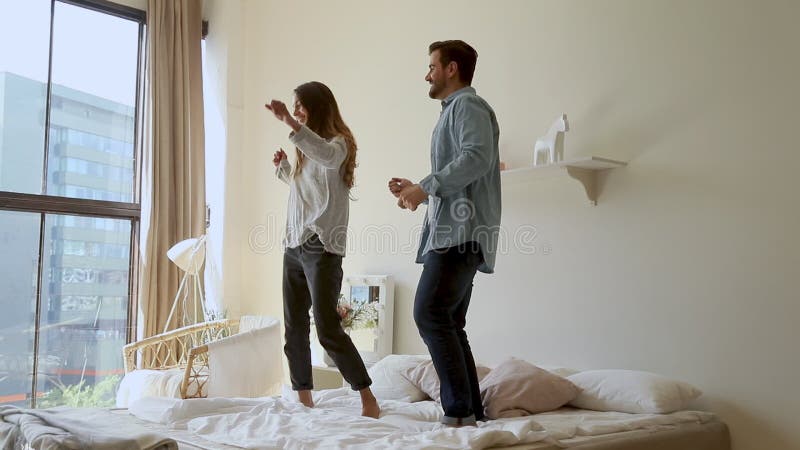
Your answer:
[[[472,279],[482,260],[477,242],[431,250],[417,285],[414,321],[439,374],[444,423],[485,420],[475,360],[464,331]]]

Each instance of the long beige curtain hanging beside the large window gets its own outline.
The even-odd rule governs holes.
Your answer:
[[[175,243],[205,232],[201,0],[148,0],[139,338],[163,331],[182,274]],[[178,309],[170,328],[175,327]]]

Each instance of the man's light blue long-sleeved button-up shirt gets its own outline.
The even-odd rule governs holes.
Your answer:
[[[428,212],[417,262],[431,250],[481,246],[481,272],[494,272],[500,234],[500,127],[491,106],[467,86],[442,101],[431,137],[431,174],[420,181]]]

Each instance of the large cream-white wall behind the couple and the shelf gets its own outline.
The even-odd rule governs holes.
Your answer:
[[[572,126],[568,157],[629,161],[604,178],[596,207],[566,177],[504,188],[506,232],[534,226],[537,251],[512,246],[495,275],[476,278],[468,332],[477,358],[678,377],[705,391],[700,406],[728,422],[736,449],[800,448],[800,3],[243,5],[242,28],[228,30],[243,36],[243,75],[241,97],[228,100],[242,122],[225,212],[235,229],[225,245],[241,252],[225,264],[241,274],[242,311],[282,308],[286,188],[270,160],[291,147],[264,101],[288,101],[309,80],[333,89],[360,144],[353,234],[382,227],[407,245],[422,212],[395,208],[386,181],[427,173],[439,111],[423,81],[427,46],[464,39],[480,54],[474,86],[497,112],[513,166],[530,161],[561,112]],[[356,239],[345,259],[347,272],[396,278],[398,353],[424,350],[411,317],[412,253]]]

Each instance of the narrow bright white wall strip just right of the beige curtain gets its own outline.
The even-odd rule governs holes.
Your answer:
[[[246,205],[241,182],[244,70],[242,2],[205,1],[209,26],[203,73],[206,122],[207,230],[205,286],[210,304],[238,317],[242,303],[242,252],[239,215]]]

